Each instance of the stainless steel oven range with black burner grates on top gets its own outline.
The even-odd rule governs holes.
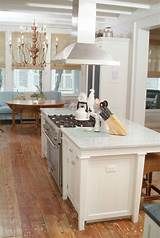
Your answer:
[[[69,111],[70,112],[70,111]],[[47,139],[47,161],[49,172],[52,174],[62,192],[62,132],[61,127],[94,127],[95,119],[77,121],[73,114],[48,115],[43,124],[43,133]]]

